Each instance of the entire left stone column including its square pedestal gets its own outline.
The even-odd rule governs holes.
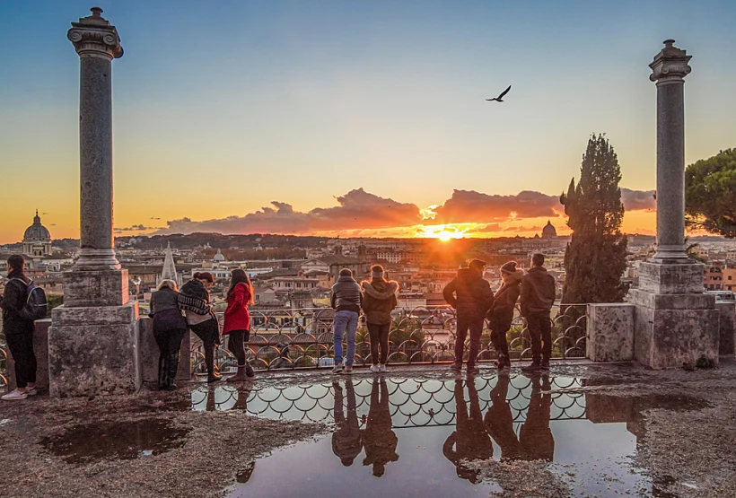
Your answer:
[[[123,49],[101,13],[93,7],[67,33],[81,68],[81,247],[48,329],[49,391],[57,397],[129,393],[141,384],[138,303],[129,301],[112,236],[111,61]]]

